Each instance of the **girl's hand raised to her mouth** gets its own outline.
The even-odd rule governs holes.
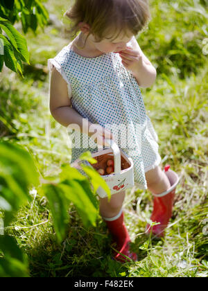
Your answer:
[[[142,56],[139,51],[133,50],[130,46],[123,51],[119,51],[123,66],[138,75],[139,68],[143,66]]]

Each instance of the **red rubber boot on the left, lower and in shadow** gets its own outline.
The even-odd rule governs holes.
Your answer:
[[[113,259],[121,263],[126,263],[127,261],[131,261],[128,260],[128,258],[125,258],[125,256],[128,256],[133,261],[137,261],[137,254],[130,252],[130,236],[125,227],[123,218],[123,209],[121,209],[120,213],[114,218],[103,218],[107,224],[107,228],[109,229],[110,233],[112,233],[112,243],[116,243],[115,249],[121,253],[119,254],[118,252],[114,251]],[[122,256],[122,254],[125,256]]]

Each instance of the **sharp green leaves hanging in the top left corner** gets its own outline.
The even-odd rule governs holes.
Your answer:
[[[29,64],[26,39],[13,26],[21,21],[24,33],[37,31],[47,24],[48,12],[40,0],[3,0],[0,3],[0,71],[3,62],[12,71],[23,73],[23,62]]]

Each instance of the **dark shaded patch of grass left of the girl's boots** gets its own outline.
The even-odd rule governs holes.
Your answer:
[[[98,220],[96,227],[85,229],[80,218],[73,216],[62,244],[56,243],[54,233],[44,233],[28,251],[31,276],[122,277],[135,262],[114,261],[111,239],[104,222]],[[144,252],[139,259],[145,256]]]

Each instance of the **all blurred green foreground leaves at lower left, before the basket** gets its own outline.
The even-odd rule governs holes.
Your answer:
[[[91,160],[90,152],[80,159]],[[84,169],[84,167],[83,167]],[[94,184],[101,180],[93,169]],[[90,177],[90,175],[89,175]],[[39,175],[31,155],[19,145],[1,141],[0,143],[0,209],[3,211],[3,224],[8,227],[20,206],[31,201],[29,186],[37,188]],[[48,179],[48,180],[47,180]],[[105,191],[110,189],[104,182]],[[97,188],[89,183],[89,179],[81,175],[76,168],[62,165],[59,177],[46,177],[40,191],[49,200],[58,243],[66,238],[69,226],[69,204],[73,202],[85,227],[96,226],[98,216]],[[0,236],[0,276],[27,276],[27,260],[15,239]]]

